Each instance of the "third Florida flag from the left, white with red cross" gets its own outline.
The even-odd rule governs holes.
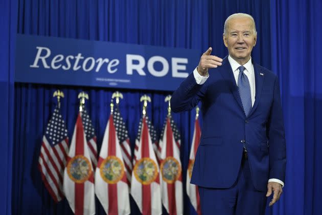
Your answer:
[[[138,148],[132,171],[131,195],[142,214],[161,214],[159,166],[145,115],[136,141]]]

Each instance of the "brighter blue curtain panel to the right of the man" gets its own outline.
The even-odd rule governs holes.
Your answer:
[[[322,214],[322,2],[271,0],[272,70],[279,76],[286,186],[274,214]]]

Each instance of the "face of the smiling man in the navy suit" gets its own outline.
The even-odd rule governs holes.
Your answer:
[[[256,39],[250,18],[232,18],[228,21],[226,34],[223,35],[224,44],[229,55],[240,65],[249,60]]]

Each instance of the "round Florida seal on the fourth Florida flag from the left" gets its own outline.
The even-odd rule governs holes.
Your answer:
[[[161,165],[162,178],[168,184],[173,184],[181,174],[181,166],[174,157],[167,157],[162,161]]]

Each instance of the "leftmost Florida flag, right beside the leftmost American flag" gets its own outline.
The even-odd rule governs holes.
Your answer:
[[[94,173],[80,114],[78,114],[67,166],[64,192],[76,215],[95,214]]]

